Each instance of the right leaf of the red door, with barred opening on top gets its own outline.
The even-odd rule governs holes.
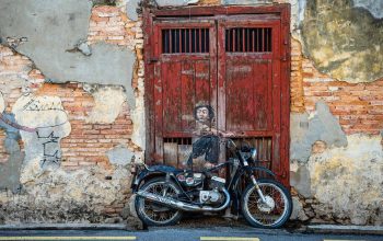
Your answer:
[[[219,127],[257,147],[280,174],[280,21],[249,16],[218,22]],[[220,90],[221,89],[221,90]]]

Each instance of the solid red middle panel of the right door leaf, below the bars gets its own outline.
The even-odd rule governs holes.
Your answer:
[[[271,130],[271,61],[228,60],[227,130]]]

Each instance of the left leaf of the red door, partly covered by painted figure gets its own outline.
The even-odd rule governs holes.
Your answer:
[[[216,28],[213,22],[181,21],[154,30],[155,157],[177,165],[192,147],[196,105],[217,105]]]

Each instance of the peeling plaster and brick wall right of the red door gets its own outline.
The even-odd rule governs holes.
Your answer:
[[[381,226],[381,1],[291,4],[292,218]],[[324,125],[318,104],[328,106]]]

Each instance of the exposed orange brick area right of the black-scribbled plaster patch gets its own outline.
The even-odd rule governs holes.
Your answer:
[[[124,104],[113,124],[89,124],[85,118],[94,106],[94,100],[81,83],[47,84],[36,95],[59,96],[68,113],[71,133],[61,140],[62,162],[67,170],[83,165],[109,167],[106,151],[119,144],[128,144],[132,130],[129,108]]]

